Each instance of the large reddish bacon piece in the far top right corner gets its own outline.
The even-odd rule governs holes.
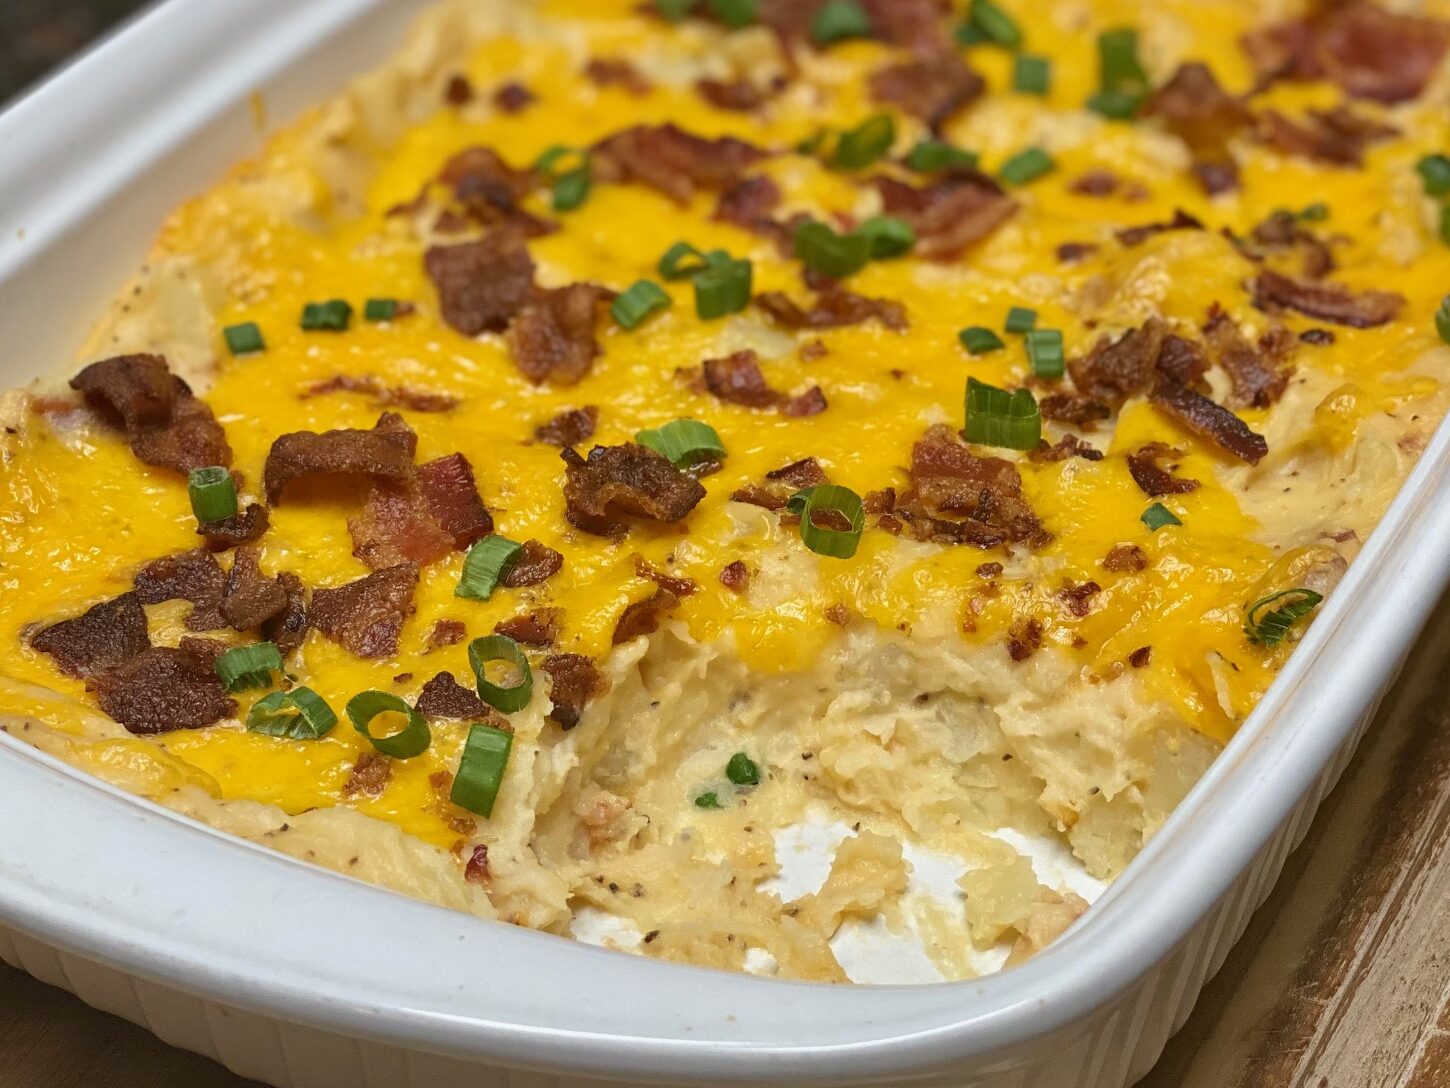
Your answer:
[[[1373,3],[1322,3],[1243,39],[1263,83],[1328,78],[1357,99],[1415,99],[1450,45],[1450,28]]]

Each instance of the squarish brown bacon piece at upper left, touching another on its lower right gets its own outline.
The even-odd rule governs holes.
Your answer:
[[[435,245],[423,267],[438,287],[444,321],[465,337],[502,332],[534,297],[534,258],[518,231]]]

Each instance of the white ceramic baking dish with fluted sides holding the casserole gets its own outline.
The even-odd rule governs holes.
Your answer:
[[[508,0],[477,0],[506,3]],[[170,0],[0,116],[0,384],[62,368],[164,215],[425,0]],[[842,988],[602,952],[231,840],[0,737],[0,957],[297,1088],[1119,1088],[1188,1015],[1450,573],[1441,428],[1237,738],[1015,970]],[[0,601],[0,609],[4,608]]]

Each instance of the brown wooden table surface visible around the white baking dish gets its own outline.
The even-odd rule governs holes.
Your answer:
[[[0,100],[142,0],[0,3]],[[1141,1088],[1450,1088],[1450,602]],[[3,1088],[257,1088],[0,965]]]

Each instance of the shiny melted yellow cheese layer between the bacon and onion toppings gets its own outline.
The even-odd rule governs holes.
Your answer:
[[[1311,200],[1331,209],[1325,229],[1340,238],[1335,255],[1341,271],[1335,279],[1401,292],[1408,305],[1386,328],[1335,329],[1333,345],[1296,353],[1299,373],[1328,376],[1337,397],[1321,405],[1314,418],[1304,413],[1296,421],[1302,424],[1299,441],[1334,454],[1356,441],[1363,419],[1412,415],[1418,403],[1436,396],[1438,383],[1406,373],[1406,366],[1438,344],[1433,313],[1450,287],[1450,250],[1424,225],[1412,167],[1421,154],[1450,144],[1450,115],[1414,115],[1406,135],[1372,149],[1363,170],[1253,149],[1244,161],[1241,193],[1209,200],[1183,168],[1182,157],[1174,157],[1172,138],[1146,133],[1148,126],[1105,123],[1077,112],[1096,88],[1090,42],[1102,28],[1144,25],[1147,41],[1164,55],[1205,59],[1230,90],[1243,90],[1251,73],[1235,42],[1260,19],[1259,4],[1005,0],[1031,28],[1031,51],[1053,59],[1051,93],[1045,100],[1014,94],[1009,55],[976,48],[970,61],[986,75],[990,97],[963,112],[950,135],[980,151],[987,171],[1031,142],[1053,148],[1057,170],[1018,190],[1022,209],[1016,218],[960,260],[948,265],[880,261],[853,279],[853,290],[906,306],[906,334],[874,323],[819,334],[764,334],[777,348],[763,351],[771,386],[799,392],[819,384],[829,400],[826,412],[787,419],[716,402],[679,380],[679,367],[754,345],[763,335],[760,322],[748,316],[697,321],[689,284],[668,284],[674,306],[638,331],[619,329],[602,318],[603,354],[580,384],[536,387],[518,371],[500,338],[467,339],[441,323],[435,292],[423,274],[422,244],[403,221],[387,216],[390,207],[410,200],[450,155],[470,145],[486,145],[512,164],[526,164],[554,144],[583,147],[628,123],[670,120],[700,135],[731,133],[758,145],[790,147],[822,125],[844,128],[876,112],[864,77],[893,57],[874,44],[838,46],[812,71],[818,88],[812,109],[790,107],[799,99],[787,94],[763,115],[716,110],[689,84],[660,83],[644,97],[593,86],[580,74],[581,57],[648,52],[683,64],[715,41],[699,30],[645,20],[634,13],[637,3],[552,0],[544,4],[542,26],[555,28],[557,41],[541,33],[481,44],[468,67],[476,87],[519,80],[539,100],[516,116],[441,107],[396,145],[377,149],[377,173],[362,209],[335,202],[309,160],[310,144],[283,133],[257,161],[167,223],[162,252],[202,263],[225,257],[232,270],[225,296],[215,300],[219,364],[206,399],[252,489],[278,434],[367,428],[377,418],[378,408],[365,396],[303,399],[309,384],[338,373],[376,374],[389,384],[457,396],[460,406],[447,413],[405,411],[419,434],[419,461],[464,453],[497,531],[512,540],[538,538],[566,557],[563,572],[538,589],[473,602],[454,596],[463,563],[454,556],[425,572],[418,612],[403,631],[396,660],[362,662],[315,634],[294,672],[335,708],[368,688],[410,693],[439,669],[467,675],[461,647],[425,653],[436,621],[463,621],[468,635],[477,637],[494,622],[542,603],[564,609],[560,650],[602,657],[624,609],[654,592],[635,573],[635,557],[642,556],[699,585],[679,612],[693,634],[702,640],[732,637],[738,654],[761,672],[802,669],[838,638],[840,628],[825,618],[834,605],[886,627],[950,612],[956,618],[953,637],[992,647],[1002,669],[1012,667],[1006,628],[1018,618],[1035,617],[1044,624],[1045,643],[1073,654],[1088,682],[1111,682],[1134,650],[1151,646],[1151,664],[1141,670],[1147,691],[1202,733],[1228,737],[1288,653],[1250,646],[1241,627],[1246,602],[1280,588],[1276,572],[1292,556],[1282,543],[1270,541],[1282,541],[1293,527],[1264,525],[1250,516],[1225,483],[1232,464],[1146,402],[1130,403],[1115,429],[1109,425],[1089,437],[1105,448],[1102,461],[1021,460],[1027,496],[1054,540],[1035,557],[1019,551],[996,593],[986,590],[976,567],[999,554],[906,545],[869,528],[853,560],[812,556],[806,592],[784,603],[755,606],[750,596],[738,596],[718,580],[728,563],[744,559],[750,564],[755,550],[767,544],[740,537],[729,495],[802,457],[816,457],[832,482],[858,493],[902,489],[912,442],[925,426],[960,426],[967,376],[1011,386],[1027,374],[1016,338],[1005,337],[1005,351],[974,358],[961,350],[957,332],[969,325],[1000,328],[1009,306],[1027,305],[1038,310],[1040,326],[1063,329],[1069,357],[1085,353],[1102,334],[1070,300],[1093,279],[1116,284],[1119,294],[1144,289],[1166,316],[1190,326],[1201,325],[1209,306],[1221,303],[1250,329],[1262,329],[1263,315],[1251,309],[1244,290],[1253,265],[1217,229],[1247,234],[1273,209],[1302,207]],[[1338,93],[1308,86],[1277,88],[1267,97],[1293,110],[1334,103]],[[914,122],[905,122],[903,129],[902,148],[916,135]],[[1141,181],[1150,196],[1130,202],[1073,193],[1070,184],[1090,168]],[[783,155],[761,170],[782,183],[789,210],[871,210],[869,200],[863,203],[860,178],[802,155]],[[273,212],[255,196],[258,178],[304,193],[315,209],[313,222],[303,225],[296,216]],[[712,222],[715,200],[703,193],[690,207],[679,207],[642,186],[596,186],[581,209],[557,216],[563,223],[558,234],[531,242],[539,279],[547,286],[587,280],[624,289],[641,277],[657,279],[661,252],[687,239],[700,248],[750,255],[757,292],[784,290],[800,297],[798,267],[783,261],[768,242]],[[1131,250],[1111,241],[1111,231],[1169,219],[1174,209],[1199,216],[1212,229],[1164,235]],[[534,210],[551,215],[542,200]],[[1418,232],[1408,257],[1388,244],[1395,231]],[[1057,260],[1058,245],[1083,241],[1098,242],[1098,254],[1079,265]],[[348,299],[358,309],[352,328],[345,334],[303,332],[297,322],[303,305],[331,297]],[[361,303],[368,297],[410,300],[418,312],[390,323],[367,323]],[[1124,312],[1119,326],[1138,323],[1141,316]],[[228,355],[220,329],[239,322],[260,325],[267,339],[264,354]],[[1290,316],[1286,323],[1301,331],[1315,322]],[[803,360],[799,347],[816,338],[828,353]],[[622,544],[566,524],[558,450],[534,442],[532,431],[560,411],[583,405],[600,408],[593,441],[605,445],[679,418],[702,419],[721,434],[729,456],[722,471],[703,480],[708,498],[686,522],[638,524]],[[1260,429],[1273,411],[1286,409],[1250,411],[1244,418]],[[1182,527],[1150,532],[1140,522],[1148,499],[1132,483],[1122,454],[1146,441],[1185,450],[1182,474],[1202,482],[1196,492],[1166,500]],[[141,466],[113,434],[67,429],[32,416],[20,434],[6,438],[4,453],[0,592],[13,637],[28,624],[70,615],[123,592],[139,564],[196,545],[184,480]],[[264,569],[293,570],[309,586],[344,585],[365,574],[352,557],[347,531],[347,518],[355,511],[355,496],[276,508],[264,540]],[[1103,556],[1116,544],[1141,547],[1148,569],[1105,572]],[[1056,593],[1066,583],[1086,580],[1098,582],[1102,593],[1092,612],[1077,618]],[[165,641],[165,631],[180,630],[186,606],[149,611],[154,638]],[[1211,667],[1215,656],[1228,667]],[[29,648],[12,650],[6,673],[87,699],[81,683],[59,677],[46,657]],[[242,696],[244,717],[252,698]],[[36,704],[20,688],[6,689],[0,709],[64,725],[64,708]],[[200,772],[225,798],[268,801],[297,812],[344,802],[342,785],[365,747],[345,725],[310,744],[218,727],[158,741],[109,741],[103,757],[123,760],[128,751],[154,753],[160,746],[186,773]],[[399,765],[381,798],[347,804],[429,841],[452,844],[457,833],[439,809],[429,776],[455,763],[464,730],[461,724],[439,724],[434,749]]]

